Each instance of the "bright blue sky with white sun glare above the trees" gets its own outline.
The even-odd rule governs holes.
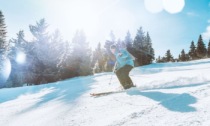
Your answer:
[[[176,58],[182,49],[203,36],[210,39],[209,0],[0,0],[5,16],[7,39],[16,38],[19,30],[32,39],[29,25],[42,18],[49,32],[58,29],[64,40],[71,41],[77,30],[84,30],[94,49],[109,39],[111,31],[123,40],[127,31],[134,39],[137,29],[149,32],[155,56],[168,49]]]

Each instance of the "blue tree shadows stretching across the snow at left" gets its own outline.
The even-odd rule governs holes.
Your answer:
[[[45,105],[46,103],[49,103],[50,101],[59,101],[65,104],[72,104],[82,94],[90,90],[91,85],[94,82],[95,80],[93,76],[87,76],[78,77],[52,84],[4,89],[0,90],[0,104],[16,100],[20,96],[36,95],[39,93],[43,93],[44,91],[46,91],[46,93],[43,93],[41,96],[36,97],[37,102],[35,102],[29,108],[26,108],[25,110],[21,111],[20,113],[25,113],[35,108],[39,108]],[[5,96],[2,97],[2,95]]]

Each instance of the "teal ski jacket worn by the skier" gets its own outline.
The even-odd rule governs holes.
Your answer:
[[[130,65],[134,67],[133,58],[127,50],[121,49],[119,51],[116,51],[115,56],[116,56],[116,62],[117,62],[115,66],[115,70],[119,70],[125,65]]]

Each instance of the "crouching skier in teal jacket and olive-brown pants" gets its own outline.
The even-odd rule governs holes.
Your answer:
[[[133,57],[131,54],[125,49],[118,50],[116,45],[111,45],[110,50],[116,57],[114,73],[117,75],[120,84],[124,89],[135,87],[129,77],[129,72],[134,67]]]

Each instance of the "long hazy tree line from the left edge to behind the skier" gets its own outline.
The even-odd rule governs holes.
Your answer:
[[[96,72],[111,72],[115,64],[115,57],[109,49],[112,44],[119,49],[127,48],[136,57],[136,66],[150,64],[154,60],[152,40],[142,27],[134,39],[128,32],[124,40],[116,40],[111,32],[111,39],[104,45],[98,43],[94,51],[82,30],[76,31],[71,41],[63,40],[58,30],[49,33],[45,19],[29,25],[29,30],[32,40],[26,40],[25,32],[20,30],[16,38],[6,41],[5,18],[0,11],[0,58],[11,62],[11,73],[5,87],[39,85]],[[20,54],[25,59],[22,64],[17,61]]]

